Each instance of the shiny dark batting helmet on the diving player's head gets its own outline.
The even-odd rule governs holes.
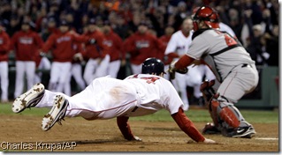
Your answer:
[[[164,63],[160,59],[150,57],[142,63],[142,74],[156,74],[160,75],[164,72]]]

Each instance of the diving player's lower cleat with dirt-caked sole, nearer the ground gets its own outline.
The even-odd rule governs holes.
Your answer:
[[[65,100],[63,95],[57,95],[54,100],[54,105],[48,114],[45,114],[42,120],[42,129],[47,131],[57,122],[62,125],[61,120],[64,120],[68,100]]]

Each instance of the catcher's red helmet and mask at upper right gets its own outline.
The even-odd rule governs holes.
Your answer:
[[[199,29],[196,21],[204,21],[210,28],[219,28],[217,11],[210,6],[202,6],[194,9],[193,15],[194,31]]]

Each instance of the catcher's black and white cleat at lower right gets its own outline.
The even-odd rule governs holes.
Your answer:
[[[248,127],[238,127],[237,129],[233,129],[231,132],[227,133],[227,137],[244,137],[244,138],[252,138],[255,137],[255,129],[252,125]]]

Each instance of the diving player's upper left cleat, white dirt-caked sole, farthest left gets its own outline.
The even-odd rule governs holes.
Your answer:
[[[38,83],[34,85],[27,92],[19,95],[19,97],[12,103],[11,110],[14,113],[19,113],[29,107],[35,107],[44,96],[44,85]]]

